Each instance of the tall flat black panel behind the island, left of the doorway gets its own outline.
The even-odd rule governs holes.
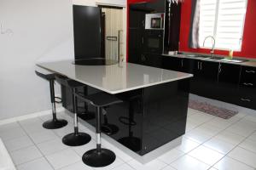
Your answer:
[[[101,8],[73,5],[75,60],[104,58]]]

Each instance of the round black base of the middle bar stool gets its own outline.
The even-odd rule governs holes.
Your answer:
[[[87,133],[69,133],[62,138],[62,143],[68,146],[80,146],[89,143],[90,139]]]

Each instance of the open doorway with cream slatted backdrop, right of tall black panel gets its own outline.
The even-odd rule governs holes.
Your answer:
[[[124,8],[102,8],[102,54],[106,59],[124,60]]]

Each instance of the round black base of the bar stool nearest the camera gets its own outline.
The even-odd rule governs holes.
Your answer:
[[[102,149],[101,152],[97,152],[94,149],[84,153],[83,161],[84,164],[90,167],[106,167],[113,163],[115,157],[115,154],[111,150]]]

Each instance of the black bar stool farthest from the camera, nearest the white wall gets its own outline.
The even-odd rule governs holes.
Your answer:
[[[43,123],[43,127],[47,129],[57,129],[61,127],[65,127],[67,125],[67,121],[63,119],[57,119],[56,109],[55,109],[55,74],[43,74],[38,71],[35,71],[38,77],[42,77],[45,80],[49,81],[49,91],[50,91],[50,101],[51,101],[51,109],[52,109],[52,120],[46,121]]]

